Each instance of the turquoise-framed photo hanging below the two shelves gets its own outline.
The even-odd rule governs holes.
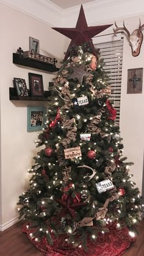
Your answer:
[[[46,127],[45,123],[45,107],[27,107],[27,131],[40,131]]]

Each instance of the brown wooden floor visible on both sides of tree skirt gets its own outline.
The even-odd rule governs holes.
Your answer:
[[[123,256],[144,256],[144,219],[138,229],[137,241],[124,252]],[[29,242],[24,233],[21,233],[21,222],[18,222],[4,232],[0,232],[0,255],[42,256],[43,254]]]

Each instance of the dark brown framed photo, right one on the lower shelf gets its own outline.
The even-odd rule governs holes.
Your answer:
[[[43,76],[29,73],[29,88],[31,89],[32,97],[43,97]]]

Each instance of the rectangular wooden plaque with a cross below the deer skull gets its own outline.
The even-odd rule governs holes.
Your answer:
[[[142,93],[143,68],[128,69],[127,93]]]

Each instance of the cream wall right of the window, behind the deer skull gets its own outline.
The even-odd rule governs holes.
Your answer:
[[[139,26],[139,18],[143,24],[144,15],[124,19],[129,31],[132,32]],[[133,57],[131,47],[124,37],[120,130],[123,137],[124,156],[128,156],[128,160],[134,162],[130,172],[134,174],[132,180],[136,182],[140,191],[142,191],[144,145],[144,73],[142,93],[127,94],[127,79],[129,68],[144,68],[143,56],[144,43],[142,43],[139,56]]]

